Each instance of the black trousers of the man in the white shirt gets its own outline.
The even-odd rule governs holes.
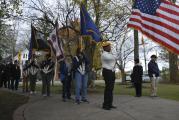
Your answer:
[[[113,72],[112,70],[103,68],[102,74],[103,74],[103,78],[105,81],[103,108],[110,108],[113,103],[115,72]]]

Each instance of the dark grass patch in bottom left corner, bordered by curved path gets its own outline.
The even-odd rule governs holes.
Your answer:
[[[28,101],[28,97],[0,90],[0,120],[12,120],[13,112]]]

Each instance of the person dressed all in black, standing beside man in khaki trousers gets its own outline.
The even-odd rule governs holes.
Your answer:
[[[135,66],[133,67],[133,72],[131,74],[132,81],[134,83],[136,97],[142,96],[142,75],[143,68],[139,63],[139,59],[135,59]]]

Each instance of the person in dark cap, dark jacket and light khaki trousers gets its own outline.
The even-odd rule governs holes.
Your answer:
[[[151,80],[151,97],[157,96],[157,82],[158,77],[160,76],[160,71],[158,68],[158,64],[156,63],[157,56],[152,55],[151,60],[148,63],[148,75]]]

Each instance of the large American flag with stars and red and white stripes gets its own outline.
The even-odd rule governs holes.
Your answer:
[[[166,0],[135,0],[128,27],[179,54],[179,6]]]

